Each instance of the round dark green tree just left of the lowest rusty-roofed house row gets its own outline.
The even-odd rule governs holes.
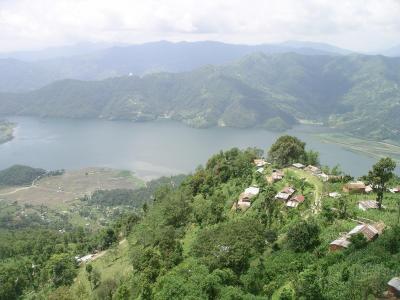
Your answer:
[[[314,222],[302,221],[288,231],[289,247],[296,252],[312,250],[319,245],[320,228]]]

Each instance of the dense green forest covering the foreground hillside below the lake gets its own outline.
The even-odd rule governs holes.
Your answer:
[[[283,136],[264,159],[261,149],[233,148],[188,176],[95,192],[82,199],[93,209],[141,206],[97,229],[7,228],[3,219],[0,299],[383,297],[400,274],[400,199],[389,192],[400,185],[395,162],[381,159],[365,174],[370,194],[366,186],[349,192],[360,183],[338,166],[317,167],[318,153],[305,146]],[[282,193],[293,197],[279,200]],[[365,199],[377,207],[361,210]],[[360,224],[379,225],[379,235],[348,234],[346,247],[332,248]],[[74,258],[96,251],[107,253]]]

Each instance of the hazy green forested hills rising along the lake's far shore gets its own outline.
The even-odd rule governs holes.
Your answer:
[[[151,120],[281,130],[322,121],[349,133],[399,139],[400,58],[254,54],[224,66],[103,81],[64,80],[2,94],[3,114]]]

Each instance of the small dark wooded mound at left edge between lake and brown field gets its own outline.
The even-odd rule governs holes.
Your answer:
[[[31,185],[35,179],[46,174],[43,169],[14,165],[0,171],[0,186]]]

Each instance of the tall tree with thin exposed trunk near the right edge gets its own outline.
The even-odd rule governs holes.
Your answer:
[[[372,170],[368,172],[367,179],[374,192],[376,192],[376,201],[378,202],[379,209],[382,208],[383,193],[386,191],[387,182],[394,176],[393,171],[396,168],[396,162],[390,157],[382,158],[375,165]]]

